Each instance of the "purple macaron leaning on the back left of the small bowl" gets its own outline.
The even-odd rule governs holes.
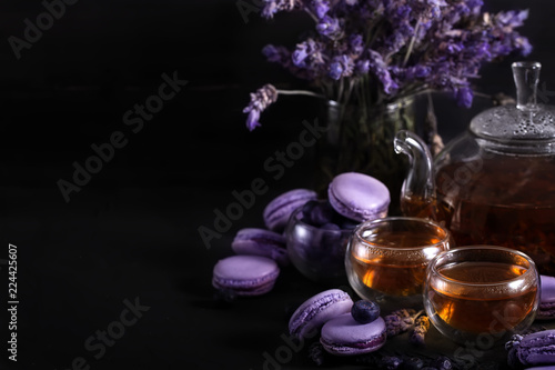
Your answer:
[[[316,192],[309,189],[295,189],[279,196],[264,208],[262,216],[266,228],[272,231],[283,231],[291,213],[307,201],[316,198]]]

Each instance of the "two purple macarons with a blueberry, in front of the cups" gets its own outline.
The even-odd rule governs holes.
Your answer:
[[[380,307],[370,301],[353,303],[339,289],[307,299],[289,321],[291,336],[303,339],[320,333],[324,350],[335,356],[356,356],[379,350],[386,340]]]

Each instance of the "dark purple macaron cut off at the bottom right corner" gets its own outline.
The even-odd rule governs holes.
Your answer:
[[[508,362],[512,366],[555,364],[555,330],[513,336],[505,348],[508,349]]]

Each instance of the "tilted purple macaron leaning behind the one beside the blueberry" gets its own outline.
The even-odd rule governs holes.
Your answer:
[[[307,299],[296,309],[289,321],[289,332],[299,339],[313,337],[314,331],[326,321],[351,312],[353,300],[343,290],[325,290]]]

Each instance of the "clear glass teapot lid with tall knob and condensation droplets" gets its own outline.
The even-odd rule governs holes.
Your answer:
[[[488,109],[471,122],[471,131],[494,150],[515,153],[555,152],[555,107],[537,103],[542,64],[513,63],[516,106]]]

